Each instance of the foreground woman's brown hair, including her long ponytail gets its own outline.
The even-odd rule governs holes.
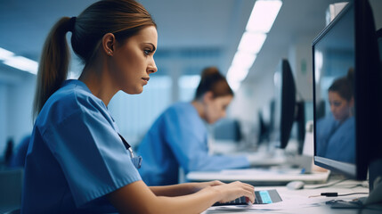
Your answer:
[[[103,35],[113,33],[118,41],[123,42],[149,26],[157,27],[150,13],[134,0],[102,0],[91,4],[78,17],[61,18],[46,37],[41,54],[33,106],[34,116],[37,116],[48,98],[67,78],[67,32],[72,32],[71,46],[86,67],[93,62]]]

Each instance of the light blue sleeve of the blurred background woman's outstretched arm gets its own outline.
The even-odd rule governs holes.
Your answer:
[[[167,144],[185,173],[249,167],[244,156],[208,154],[207,128],[196,113],[181,115],[177,111],[169,111],[164,123]]]

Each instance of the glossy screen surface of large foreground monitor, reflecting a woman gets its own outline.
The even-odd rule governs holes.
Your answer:
[[[339,161],[354,173],[354,15],[341,19],[314,45],[316,156]],[[339,163],[338,162],[338,163]]]

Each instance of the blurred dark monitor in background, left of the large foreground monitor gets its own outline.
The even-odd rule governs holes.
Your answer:
[[[297,89],[295,79],[288,60],[282,59],[274,73],[275,85],[275,111],[272,132],[275,140],[280,142],[280,148],[287,147],[291,131],[297,121],[298,152],[302,152],[305,136],[304,102],[297,102]]]

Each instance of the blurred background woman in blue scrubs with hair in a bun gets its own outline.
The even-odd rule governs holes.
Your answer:
[[[149,185],[177,184],[180,167],[184,173],[248,168],[245,156],[208,154],[205,123],[225,117],[232,98],[232,89],[219,70],[203,70],[194,100],[170,106],[139,145],[144,159],[140,169],[143,181]]]

